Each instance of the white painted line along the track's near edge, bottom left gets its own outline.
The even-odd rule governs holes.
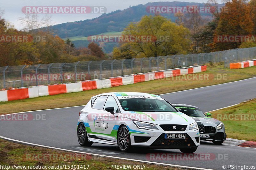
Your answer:
[[[174,166],[178,168],[189,168],[189,169],[200,169],[200,170],[212,170],[212,169],[205,169],[205,168],[197,168],[197,167],[190,167],[190,166],[181,166],[181,165],[172,165],[172,164],[165,164],[165,163],[159,163],[159,162],[150,162],[150,161],[145,161],[145,160],[136,160],[136,159],[129,159],[129,158],[120,158],[120,157],[115,157],[115,156],[108,156],[108,155],[100,155],[100,154],[95,154],[95,153],[87,153],[87,152],[79,152],[79,151],[72,151],[68,149],[61,149],[61,148],[55,148],[51,146],[45,146],[45,145],[40,145],[40,144],[33,144],[33,143],[28,143],[28,142],[23,142],[7,137],[0,136],[0,138],[18,142],[18,143],[23,143],[23,144],[28,144],[28,145],[34,145],[34,146],[40,146],[44,148],[50,148],[50,149],[57,149],[57,150],[62,150],[62,151],[68,151],[68,152],[76,152],[76,153],[84,153],[88,155],[94,155],[94,156],[101,156],[101,157],[107,157],[107,158],[114,158],[114,159],[124,159],[124,160],[130,160],[130,161],[136,161],[136,162],[143,162],[143,163],[149,163],[149,164],[157,164],[157,165],[164,165],[164,166]]]

